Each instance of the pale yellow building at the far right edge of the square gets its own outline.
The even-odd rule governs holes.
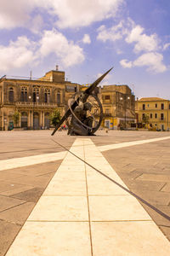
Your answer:
[[[170,130],[170,101],[147,97],[137,100],[135,105],[138,124],[146,122],[150,129]]]

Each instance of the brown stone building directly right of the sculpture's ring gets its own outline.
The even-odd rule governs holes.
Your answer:
[[[101,89],[103,126],[127,129],[135,120],[135,96],[127,85],[105,85]]]

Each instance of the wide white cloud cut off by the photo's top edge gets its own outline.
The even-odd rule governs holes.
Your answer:
[[[124,0],[1,0],[0,29],[28,26],[33,11],[45,9],[56,19],[56,26],[81,27],[115,17]]]

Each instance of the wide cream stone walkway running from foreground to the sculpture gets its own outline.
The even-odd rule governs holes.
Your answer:
[[[89,138],[71,152],[122,183]],[[139,202],[72,154],[65,156],[6,256],[169,256]]]

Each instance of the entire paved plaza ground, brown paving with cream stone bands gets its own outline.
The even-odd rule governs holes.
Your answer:
[[[170,221],[116,185],[170,216],[170,132],[51,132],[0,132],[0,256],[170,255]]]

